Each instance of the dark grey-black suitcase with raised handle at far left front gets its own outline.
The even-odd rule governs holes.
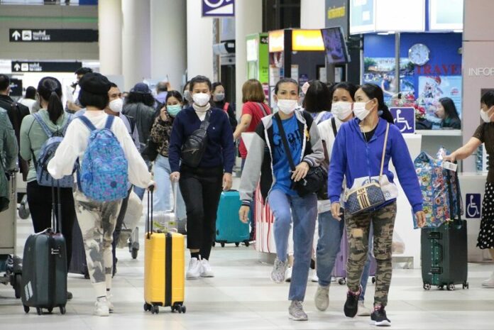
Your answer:
[[[60,313],[65,314],[67,304],[67,252],[65,238],[57,229],[55,209],[58,222],[62,223],[60,205],[60,188],[57,188],[57,204],[55,208],[55,188],[52,187],[53,198],[53,228],[28,237],[24,246],[22,303],[24,312],[29,307],[35,307],[38,315],[42,309],[52,312],[59,307]]]

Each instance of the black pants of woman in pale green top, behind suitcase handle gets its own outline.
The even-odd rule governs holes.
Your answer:
[[[28,182],[27,187],[29,210],[31,211],[31,219],[33,219],[33,228],[35,233],[44,231],[52,227],[52,188],[38,185],[38,182]],[[55,208],[57,208],[57,189],[55,188]],[[62,221],[57,216],[58,229],[65,237],[67,245],[67,269],[72,259],[72,227],[74,226],[75,207],[74,197],[72,196],[72,188],[60,188],[60,204],[62,206]]]

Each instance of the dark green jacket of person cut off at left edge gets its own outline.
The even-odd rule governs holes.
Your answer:
[[[5,172],[16,169],[17,139],[7,111],[0,109],[0,197],[9,199],[9,182]]]

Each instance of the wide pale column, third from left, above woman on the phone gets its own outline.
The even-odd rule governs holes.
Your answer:
[[[186,1],[150,0],[151,75],[180,90],[187,69]],[[180,90],[180,92],[182,92]]]

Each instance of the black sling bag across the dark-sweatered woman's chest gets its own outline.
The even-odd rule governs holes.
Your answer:
[[[209,116],[211,116],[211,111],[207,111],[201,126],[193,131],[182,145],[182,162],[187,166],[197,167],[201,163],[202,155],[204,155],[207,146]]]

